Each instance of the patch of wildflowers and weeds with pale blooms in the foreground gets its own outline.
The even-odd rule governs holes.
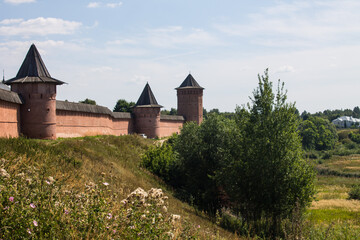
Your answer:
[[[195,239],[179,215],[167,212],[161,189],[136,189],[121,201],[105,176],[74,190],[31,166],[0,160],[1,239]],[[121,203],[120,203],[121,201]]]

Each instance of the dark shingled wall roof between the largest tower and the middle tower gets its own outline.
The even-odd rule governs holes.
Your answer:
[[[91,105],[85,103],[75,103],[66,101],[56,101],[56,110],[72,111],[72,112],[85,112],[85,113],[100,113],[110,115],[118,119],[130,119],[131,114],[125,112],[112,112],[107,107]]]

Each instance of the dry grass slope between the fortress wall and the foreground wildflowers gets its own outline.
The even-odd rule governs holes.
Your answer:
[[[236,238],[217,227],[193,207],[172,196],[157,177],[141,169],[140,156],[153,140],[138,136],[95,136],[57,139],[54,141],[25,138],[0,139],[0,158],[5,159],[9,171],[16,172],[19,163],[40,169],[44,176],[74,190],[84,190],[89,182],[108,182],[109,189],[126,198],[136,188],[146,191],[162,188],[169,196],[169,212],[188,219],[191,225],[201,229],[201,238]]]

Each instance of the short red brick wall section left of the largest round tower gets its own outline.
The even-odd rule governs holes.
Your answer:
[[[20,104],[0,99],[0,137],[20,134]]]

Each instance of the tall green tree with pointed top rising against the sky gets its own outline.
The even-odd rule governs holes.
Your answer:
[[[283,219],[311,202],[314,171],[302,159],[299,117],[284,84],[274,94],[268,70],[258,78],[251,104],[236,111],[237,156],[222,162],[218,179],[234,209],[253,226],[265,222],[275,236]]]

